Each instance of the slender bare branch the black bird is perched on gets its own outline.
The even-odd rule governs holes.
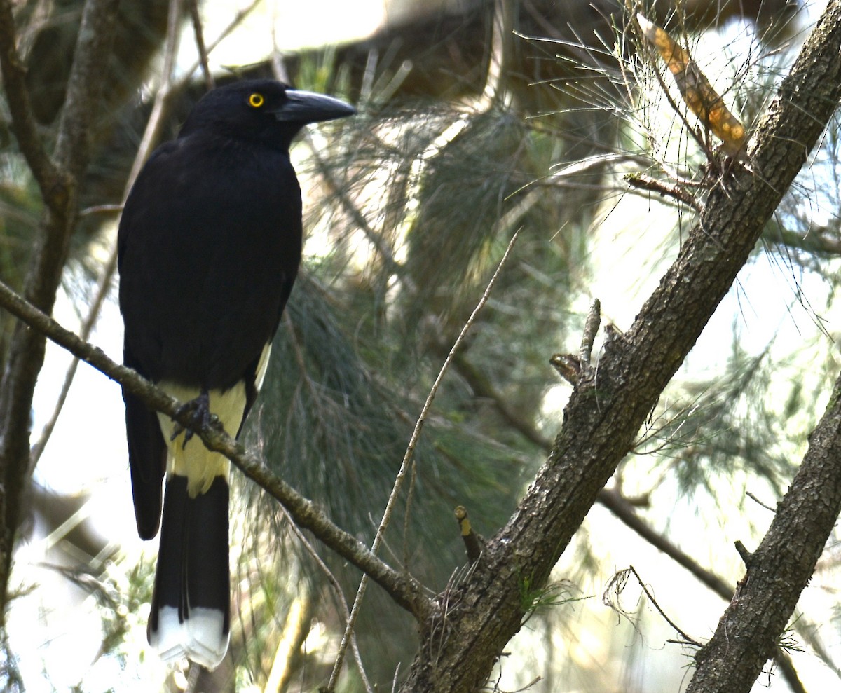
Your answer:
[[[34,331],[48,336],[51,341],[64,347],[73,356],[122,385],[127,392],[142,399],[150,409],[172,416],[183,426],[191,428],[194,426],[186,412],[178,414],[181,403],[177,399],[173,399],[163,390],[158,389],[131,368],[114,362],[98,347],[82,341],[76,334],[66,330],[49,315],[45,315],[29,304],[2,282],[0,282],[0,306]],[[313,532],[315,537],[318,537],[326,546],[368,574],[391,595],[399,606],[410,611],[418,620],[426,618],[432,608],[432,603],[426,596],[423,586],[415,579],[390,568],[356,537],[333,524],[322,510],[272,473],[262,460],[246,450],[241,442],[212,426],[204,426],[195,433],[201,437],[210,450],[224,454],[245,473],[246,477],[257,483],[272,498],[278,500],[298,526]]]

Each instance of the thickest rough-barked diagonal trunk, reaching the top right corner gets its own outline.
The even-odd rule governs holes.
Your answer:
[[[831,0],[759,123],[750,151],[752,171],[735,167],[732,176],[722,177],[630,330],[623,336],[611,333],[599,368],[584,375],[569,399],[547,463],[516,513],[488,543],[468,582],[442,596],[450,605],[446,619],[423,624],[426,647],[421,646],[402,690],[473,691],[484,685],[526,616],[529,600],[522,599],[523,590],[546,584],[747,261],[839,97],[841,0]],[[433,641],[436,648],[428,646]],[[771,653],[770,646],[763,651],[765,657]]]

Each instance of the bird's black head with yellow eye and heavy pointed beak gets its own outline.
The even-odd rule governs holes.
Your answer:
[[[337,98],[268,79],[248,80],[206,93],[193,106],[180,136],[209,129],[235,139],[288,149],[304,125],[354,113],[352,106]]]

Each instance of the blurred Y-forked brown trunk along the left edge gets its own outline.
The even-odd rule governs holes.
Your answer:
[[[41,235],[27,272],[24,294],[29,303],[49,313],[56,300],[72,230],[78,214],[78,181],[87,166],[93,114],[103,80],[98,78],[114,36],[118,0],[88,0],[82,10],[67,98],[61,114],[56,151],[46,158],[34,130],[23,83],[17,34],[9,0],[0,0],[0,68],[9,92],[13,129],[24,151],[41,196],[45,214]],[[14,97],[14,98],[11,98]],[[14,107],[11,102],[15,102]],[[19,325],[8,350],[0,384],[0,622],[7,600],[14,538],[20,502],[29,482],[29,412],[35,381],[44,362],[45,338]]]

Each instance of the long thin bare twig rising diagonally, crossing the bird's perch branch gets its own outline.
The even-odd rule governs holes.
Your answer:
[[[462,331],[458,333],[458,337],[456,338],[456,341],[453,342],[452,349],[450,349],[450,352],[447,354],[447,358],[444,360],[441,370],[438,371],[438,375],[435,378],[435,382],[432,384],[429,394],[426,395],[426,402],[424,402],[423,408],[421,409],[421,415],[418,416],[418,419],[415,422],[415,430],[412,431],[412,435],[409,440],[409,445],[406,447],[406,452],[403,457],[403,462],[400,464],[397,476],[394,478],[394,486],[391,489],[391,495],[389,495],[389,500],[385,505],[385,510],[383,510],[383,519],[379,523],[379,526],[377,528],[377,534],[373,538],[373,543],[371,544],[371,553],[373,553],[373,555],[375,556],[377,555],[377,552],[379,550],[380,543],[383,541],[383,533],[385,532],[386,527],[389,526],[389,521],[391,521],[391,515],[394,511],[394,505],[396,505],[397,503],[397,498],[400,489],[403,487],[406,474],[411,468],[411,461],[415,456],[415,447],[417,446],[418,440],[421,437],[421,431],[423,430],[423,426],[426,423],[426,416],[429,415],[429,411],[431,410],[432,402],[435,400],[438,388],[441,386],[444,376],[446,375],[447,370],[450,368],[452,360],[456,357],[456,352],[458,352],[459,347],[462,346],[464,338],[467,336],[470,327],[473,325],[473,322],[479,315],[479,311],[481,311],[481,309],[484,308],[484,304],[488,302],[490,293],[494,288],[494,284],[496,283],[496,279],[500,276],[502,268],[505,267],[505,262],[508,261],[508,257],[510,256],[511,251],[514,248],[514,244],[516,243],[519,235],[520,230],[516,230],[514,232],[514,235],[511,236],[511,240],[508,243],[508,247],[505,248],[505,253],[502,256],[500,263],[496,266],[494,276],[490,278],[488,286],[487,288],[485,288],[484,294],[482,294],[482,298],[479,299],[479,303],[476,304],[476,307],[473,309],[473,312],[470,314],[470,317],[468,318],[467,322],[464,323]],[[356,619],[359,614],[359,609],[362,605],[362,597],[365,595],[365,590],[367,587],[368,575],[365,574],[362,575],[362,579],[359,581],[357,595],[356,598],[353,600],[353,607],[351,609],[351,618],[347,622],[347,627],[345,628],[345,632],[341,637],[341,645],[339,646],[339,652],[336,654],[336,662],[333,664],[333,671],[330,674],[330,681],[327,684],[328,691],[335,690],[336,680],[338,679],[339,673],[341,672],[341,665],[345,658],[347,643],[349,642],[354,624],[356,623]]]

